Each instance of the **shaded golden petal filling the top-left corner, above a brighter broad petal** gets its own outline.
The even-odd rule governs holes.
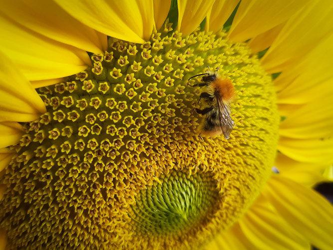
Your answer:
[[[51,39],[86,51],[102,52],[102,43],[96,30],[70,16],[53,1],[18,0],[13,4],[12,0],[2,0],[0,11],[2,15]],[[107,42],[106,35],[104,39]]]

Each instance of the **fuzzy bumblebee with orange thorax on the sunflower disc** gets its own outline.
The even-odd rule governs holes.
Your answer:
[[[219,75],[218,70],[219,68],[216,71],[208,70],[207,73],[194,75],[189,80],[205,75],[202,77],[203,82],[192,85],[205,87],[198,103],[203,98],[208,106],[203,109],[195,108],[197,113],[206,115],[201,133],[208,136],[223,133],[224,137],[229,139],[234,127],[234,121],[230,117],[230,103],[235,97],[235,88],[230,79]]]

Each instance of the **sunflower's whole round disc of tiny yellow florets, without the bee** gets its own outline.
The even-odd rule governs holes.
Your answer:
[[[197,248],[230,227],[271,172],[279,118],[271,77],[226,36],[166,23],[143,44],[109,38],[90,68],[37,89],[47,112],[1,176],[8,248]],[[229,140],[199,138],[207,103],[187,81],[206,66],[234,84]]]

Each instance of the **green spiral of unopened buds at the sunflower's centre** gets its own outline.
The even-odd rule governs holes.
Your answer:
[[[142,232],[172,234],[187,231],[212,217],[216,183],[200,174],[173,172],[162,183],[141,190],[133,206],[132,219]]]

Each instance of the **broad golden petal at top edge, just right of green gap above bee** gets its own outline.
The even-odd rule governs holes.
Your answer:
[[[310,0],[242,0],[231,28],[230,39],[245,41],[286,21]]]

